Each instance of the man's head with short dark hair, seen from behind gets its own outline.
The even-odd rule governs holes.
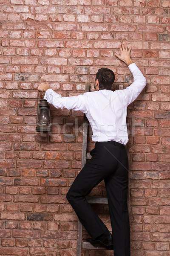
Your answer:
[[[99,89],[111,90],[115,76],[114,72],[106,67],[100,68],[96,73],[96,79],[99,81]]]

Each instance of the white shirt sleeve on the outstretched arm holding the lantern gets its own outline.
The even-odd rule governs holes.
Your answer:
[[[87,113],[87,95],[79,94],[78,96],[62,97],[60,94],[48,89],[45,92],[44,99],[52,104],[55,108],[67,108]]]

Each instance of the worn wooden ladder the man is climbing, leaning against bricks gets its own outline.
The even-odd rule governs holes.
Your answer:
[[[86,83],[85,85],[85,93],[90,91],[90,83]],[[83,139],[82,139],[82,166],[84,167],[86,160],[91,159],[90,153],[87,152],[87,137],[88,137],[88,119],[84,113],[83,120]],[[90,204],[108,204],[108,198],[94,198],[91,196],[87,196],[86,200]],[[129,202],[129,195],[128,195]],[[129,209],[129,208],[128,208]],[[113,246],[100,246],[94,247],[91,243],[82,241],[82,223],[78,220],[78,236],[77,236],[77,254],[76,256],[81,256],[82,249],[99,249],[99,250],[113,250]]]

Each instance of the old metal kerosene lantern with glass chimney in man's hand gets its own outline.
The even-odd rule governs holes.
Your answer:
[[[37,132],[50,132],[51,133],[51,116],[50,116],[50,105],[46,99],[40,99],[37,109]]]

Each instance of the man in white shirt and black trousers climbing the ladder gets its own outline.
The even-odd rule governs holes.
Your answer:
[[[144,89],[146,79],[130,58],[131,47],[127,49],[127,44],[125,47],[122,44],[119,48],[121,54],[115,55],[128,65],[134,78],[133,84],[125,90],[111,90],[114,73],[107,68],[98,70],[94,92],[62,97],[48,84],[40,84],[38,90],[44,90],[44,99],[56,108],[79,110],[87,116],[95,148],[90,152],[91,160],[85,163],[71,185],[67,199],[90,234],[91,239],[87,240],[91,244],[113,245],[114,256],[130,256],[126,110]],[[108,196],[113,236],[85,199],[102,180],[105,181]]]

